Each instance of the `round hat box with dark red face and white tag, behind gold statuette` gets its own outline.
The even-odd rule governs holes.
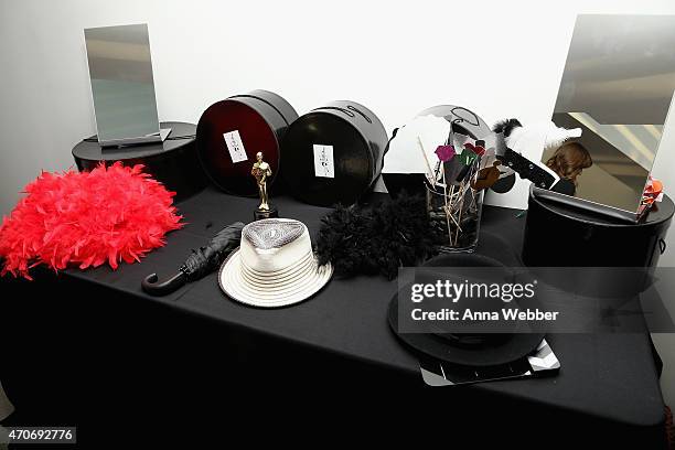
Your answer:
[[[200,161],[211,181],[223,191],[244,196],[258,195],[250,174],[256,153],[269,163],[271,186],[281,158],[281,140],[298,118],[293,107],[268,90],[235,95],[211,105],[197,124]]]

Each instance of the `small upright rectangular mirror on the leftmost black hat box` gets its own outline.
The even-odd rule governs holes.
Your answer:
[[[147,24],[84,31],[101,146],[159,141]]]

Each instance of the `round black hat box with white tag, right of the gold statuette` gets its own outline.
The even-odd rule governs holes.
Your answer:
[[[363,105],[332,101],[289,128],[281,175],[290,193],[319,206],[355,203],[382,171],[387,132]]]

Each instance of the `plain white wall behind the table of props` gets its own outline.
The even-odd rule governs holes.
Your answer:
[[[196,122],[215,100],[265,88],[300,114],[363,103],[390,131],[443,103],[488,122],[550,117],[575,17],[593,12],[675,14],[675,2],[0,0],[0,214],[40,170],[72,167],[73,144],[95,132],[84,28],[149,23],[160,120]],[[654,170],[666,189],[674,147],[675,114]],[[493,200],[524,204],[525,184],[515,195]],[[662,264],[675,266],[668,240]],[[675,354],[672,335],[658,344]]]

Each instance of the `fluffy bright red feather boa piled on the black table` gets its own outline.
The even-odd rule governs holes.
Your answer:
[[[164,234],[183,226],[174,192],[142,173],[142,165],[103,163],[90,172],[43,172],[25,186],[0,226],[0,276],[31,279],[29,269],[54,270],[133,262],[164,245]]]

